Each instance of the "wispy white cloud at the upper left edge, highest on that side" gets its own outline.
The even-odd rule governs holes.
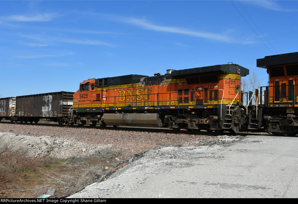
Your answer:
[[[60,15],[55,13],[42,13],[34,15],[10,15],[7,17],[0,17],[0,20],[8,21],[51,21],[53,18],[59,17]]]

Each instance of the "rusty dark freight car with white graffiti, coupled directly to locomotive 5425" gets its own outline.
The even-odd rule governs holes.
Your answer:
[[[69,109],[74,92],[53,92],[16,97],[15,116],[20,122],[47,120],[59,124],[69,123]]]

